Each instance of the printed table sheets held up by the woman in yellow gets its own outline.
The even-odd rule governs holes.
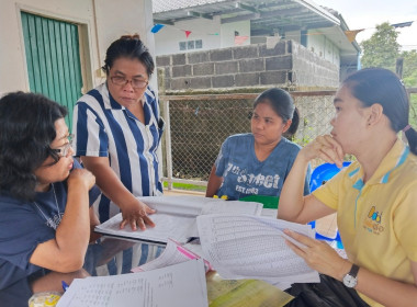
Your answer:
[[[199,216],[196,220],[204,258],[223,278],[319,282],[318,273],[286,246],[282,232],[291,229],[314,238],[308,225],[235,214]]]

